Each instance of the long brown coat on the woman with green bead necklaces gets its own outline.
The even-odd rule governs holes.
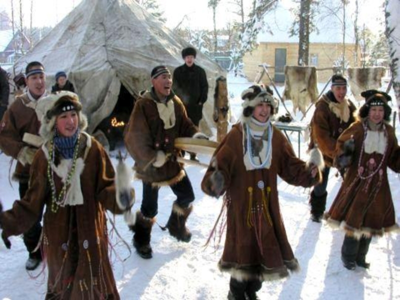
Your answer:
[[[119,299],[108,258],[105,210],[121,211],[115,201],[114,169],[108,155],[94,138],[80,133],[75,173],[67,189],[68,198],[77,203],[53,212],[48,146],[49,142],[36,152],[25,196],[0,214],[3,234],[25,232],[45,208],[41,246],[48,267],[46,299]],[[66,160],[57,151],[54,161],[59,174],[67,171]],[[56,195],[62,186],[57,174]]]

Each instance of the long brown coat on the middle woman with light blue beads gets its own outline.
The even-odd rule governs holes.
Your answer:
[[[201,182],[202,190],[213,195],[210,181],[215,168],[223,174],[226,239],[218,266],[237,280],[276,279],[287,276],[288,269],[298,269],[280,213],[277,176],[304,187],[316,184],[319,179],[319,176],[312,178],[307,163],[296,157],[283,133],[275,126],[272,130],[269,168],[246,170],[243,128],[237,123],[216,148]],[[250,208],[264,204],[266,211],[252,219]]]

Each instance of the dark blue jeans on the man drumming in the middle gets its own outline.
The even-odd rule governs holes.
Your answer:
[[[175,184],[169,185],[172,192],[176,195],[176,203],[186,208],[194,200],[193,187],[187,174],[182,180]],[[157,186],[151,186],[151,183],[143,182],[143,200],[141,202],[141,213],[149,218],[154,217],[158,213],[158,189]]]

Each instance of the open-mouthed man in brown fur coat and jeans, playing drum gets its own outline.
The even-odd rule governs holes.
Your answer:
[[[172,79],[169,70],[159,65],[151,71],[150,90],[140,92],[124,141],[135,160],[136,177],[143,181],[143,199],[136,213],[133,246],[143,258],[152,257],[150,246],[151,227],[157,214],[158,189],[169,185],[176,195],[166,228],[176,239],[188,242],[190,231],[186,219],[192,210],[193,188],[176,161],[180,151],[174,147],[176,137],[199,137],[197,127],[187,117],[181,100],[171,91]]]

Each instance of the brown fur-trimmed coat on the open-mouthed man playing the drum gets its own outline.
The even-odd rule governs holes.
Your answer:
[[[160,115],[157,105],[165,107],[165,111],[161,113],[163,115]],[[165,125],[165,122],[171,119],[173,125]],[[136,177],[156,186],[179,181],[184,176],[184,171],[175,159],[181,154],[174,147],[174,140],[176,137],[192,137],[196,132],[196,126],[187,117],[186,110],[177,96],[171,93],[166,103],[162,104],[152,91],[142,91],[134,105],[124,135],[125,146],[135,161]],[[156,160],[157,151],[163,151],[167,156],[165,163],[160,167],[152,164]]]

